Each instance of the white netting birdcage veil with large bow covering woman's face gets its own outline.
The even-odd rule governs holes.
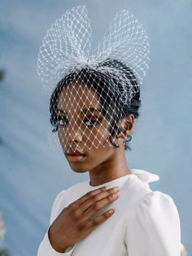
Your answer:
[[[120,122],[149,68],[146,30],[127,10],[116,14],[92,53],[91,40],[86,7],[73,7],[51,24],[37,58],[37,73],[50,93],[50,143],[65,153],[113,147],[122,131],[126,139]]]

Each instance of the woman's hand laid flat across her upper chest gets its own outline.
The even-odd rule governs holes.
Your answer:
[[[97,218],[90,218],[102,209],[115,201],[119,194],[119,188],[106,187],[98,188],[87,192],[72,204],[65,207],[49,228],[49,239],[52,247],[59,253],[87,236],[95,227],[111,217],[107,210]]]

